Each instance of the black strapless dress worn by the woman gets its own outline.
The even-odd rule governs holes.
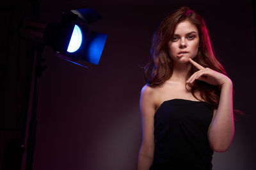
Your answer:
[[[155,151],[150,170],[212,169],[207,132],[213,108],[202,101],[164,101],[154,115]]]

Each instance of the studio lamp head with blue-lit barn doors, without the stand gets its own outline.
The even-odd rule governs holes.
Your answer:
[[[92,8],[64,11],[61,23],[41,24],[24,21],[21,34],[33,41],[52,46],[61,59],[84,66],[84,62],[98,65],[107,34],[90,30],[90,24],[102,19]],[[86,67],[86,66],[84,66]]]

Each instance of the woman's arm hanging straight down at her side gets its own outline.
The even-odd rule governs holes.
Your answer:
[[[154,112],[152,88],[145,85],[140,96],[142,140],[137,170],[148,170],[154,159]]]

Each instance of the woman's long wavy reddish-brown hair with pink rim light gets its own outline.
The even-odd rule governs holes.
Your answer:
[[[209,67],[212,70],[218,71],[219,73],[227,76],[223,66],[218,62],[214,55],[207,27],[203,18],[188,7],[181,7],[166,16],[154,32],[152,46],[150,49],[150,60],[144,67],[144,76],[148,86],[161,86],[164,81],[168,80],[172,76],[173,62],[168,54],[167,43],[172,38],[175,26],[185,20],[194,24],[199,33],[200,41],[198,53],[194,58],[195,62],[203,67]],[[191,70],[186,76],[186,80],[196,71],[198,71],[198,69],[192,65]],[[211,85],[200,80],[196,80],[194,82],[195,83],[193,85],[189,84],[193,96],[198,99],[195,96],[195,92],[199,91],[200,97],[202,97],[206,103],[211,104],[214,109],[218,108],[221,87]]]

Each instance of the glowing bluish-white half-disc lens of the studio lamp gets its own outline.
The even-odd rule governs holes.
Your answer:
[[[70,38],[70,42],[68,44],[67,52],[76,52],[80,48],[82,40],[82,31],[77,25],[75,25],[72,36]]]

